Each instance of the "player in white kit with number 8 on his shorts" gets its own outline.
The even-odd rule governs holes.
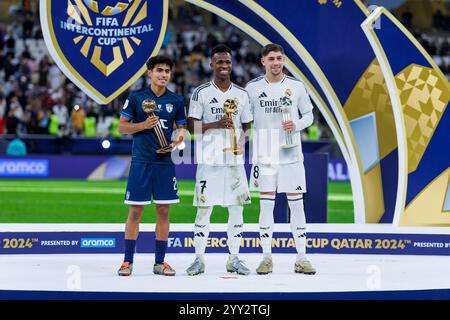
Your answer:
[[[306,181],[300,139],[300,131],[313,123],[313,106],[304,84],[283,73],[283,48],[268,44],[261,53],[265,76],[250,81],[246,86],[254,118],[250,189],[261,194],[259,228],[263,259],[256,272],[268,274],[273,270],[273,210],[278,191],[287,194],[291,212],[290,224],[297,250],[294,270],[315,274],[316,270],[305,255],[303,194]]]

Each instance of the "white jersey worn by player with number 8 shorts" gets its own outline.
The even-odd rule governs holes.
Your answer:
[[[289,76],[274,83],[261,76],[250,81],[246,89],[254,119],[253,163],[284,164],[303,160],[300,131],[311,124],[313,109],[304,84]],[[282,128],[282,109],[286,104],[296,124],[296,131],[292,133],[295,147],[292,148],[282,148],[286,144]]]

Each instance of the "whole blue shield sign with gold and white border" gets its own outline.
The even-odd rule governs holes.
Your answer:
[[[161,48],[168,0],[41,0],[40,14],[53,60],[106,104],[142,75]]]

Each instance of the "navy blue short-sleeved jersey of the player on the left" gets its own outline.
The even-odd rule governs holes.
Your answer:
[[[174,124],[186,124],[184,99],[172,91],[157,97],[150,88],[133,91],[128,96],[123,106],[121,116],[132,120],[134,123],[143,122],[148,115],[142,110],[142,102],[151,99],[156,102],[155,115],[159,117],[159,123],[167,143],[172,141]],[[170,153],[158,155],[156,151],[161,148],[154,129],[143,130],[133,135],[132,161],[151,162],[158,164],[172,164]]]

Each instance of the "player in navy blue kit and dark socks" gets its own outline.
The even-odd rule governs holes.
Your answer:
[[[125,258],[118,274],[129,276],[133,270],[133,255],[139,234],[139,220],[144,206],[153,202],[156,205],[155,229],[155,274],[173,276],[175,270],[165,261],[167,239],[169,235],[169,206],[178,203],[175,165],[171,153],[161,154],[161,136],[157,135],[157,126],[172,150],[183,141],[186,115],[184,98],[167,89],[172,74],[173,62],[166,57],[156,56],[147,62],[147,74],[151,79],[150,87],[131,92],[125,102],[120,122],[121,134],[133,135],[133,148],[125,204],[130,206],[125,226]],[[142,109],[144,100],[153,100],[156,108],[149,116]],[[159,129],[158,129],[159,130]],[[172,140],[172,134],[175,137]]]

